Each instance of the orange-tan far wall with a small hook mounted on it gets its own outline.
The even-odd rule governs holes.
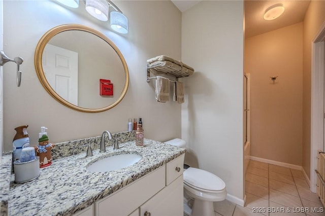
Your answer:
[[[244,64],[251,78],[251,156],[299,166],[302,31],[301,22],[246,39]]]

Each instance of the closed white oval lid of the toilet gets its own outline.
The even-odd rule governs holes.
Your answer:
[[[183,174],[184,183],[199,190],[222,191],[225,189],[222,179],[206,170],[189,167]]]

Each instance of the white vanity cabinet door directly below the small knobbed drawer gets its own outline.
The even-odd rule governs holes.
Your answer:
[[[146,212],[153,216],[183,215],[183,174],[140,206],[140,216]]]

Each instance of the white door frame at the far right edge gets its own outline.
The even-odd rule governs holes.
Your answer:
[[[316,193],[317,151],[324,151],[324,41],[325,22],[312,41],[311,68],[311,132],[310,132],[310,190]]]

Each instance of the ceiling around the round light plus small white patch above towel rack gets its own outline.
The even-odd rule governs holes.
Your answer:
[[[181,12],[184,12],[201,0],[172,0],[172,2]],[[265,10],[279,3],[283,4],[284,13],[275,20],[264,20]],[[245,0],[245,37],[249,38],[303,21],[309,3],[310,0]]]

